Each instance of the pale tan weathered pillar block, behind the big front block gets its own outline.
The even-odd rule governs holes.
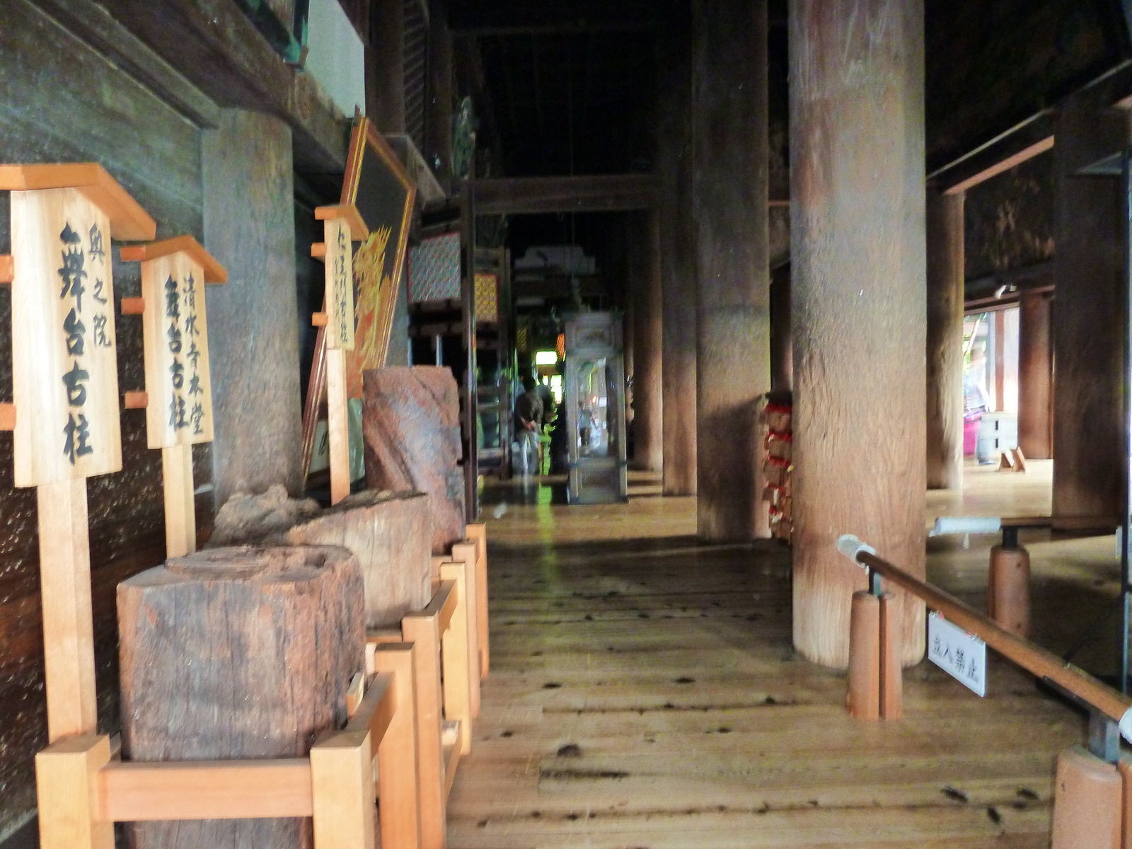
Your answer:
[[[297,524],[286,541],[341,546],[358,558],[369,628],[400,628],[432,598],[432,513],[422,492],[355,492]]]

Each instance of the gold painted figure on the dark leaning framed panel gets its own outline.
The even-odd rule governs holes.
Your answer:
[[[357,329],[354,350],[346,353],[346,394],[352,398],[361,397],[362,372],[385,365],[386,341],[381,337],[381,327],[388,327],[388,321],[381,320],[381,311],[393,309],[392,302],[383,303],[383,294],[392,285],[391,275],[384,273],[391,233],[388,226],[378,228],[361,243],[353,258]]]

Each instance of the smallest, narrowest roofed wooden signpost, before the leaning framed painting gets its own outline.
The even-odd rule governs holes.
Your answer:
[[[310,255],[326,265],[323,312],[311,316],[326,342],[326,434],[331,454],[331,504],[350,495],[350,408],[346,397],[346,351],[354,349],[353,248],[369,235],[354,206],[319,206],[315,217],[325,222],[325,241],[310,246]],[[318,343],[316,342],[316,348]]]

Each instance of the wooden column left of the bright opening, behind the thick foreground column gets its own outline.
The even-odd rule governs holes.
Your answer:
[[[963,197],[927,191],[928,489],[963,486]]]

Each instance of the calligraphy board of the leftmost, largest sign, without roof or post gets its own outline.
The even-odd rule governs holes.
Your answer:
[[[16,486],[122,468],[110,221],[77,189],[11,194]]]

